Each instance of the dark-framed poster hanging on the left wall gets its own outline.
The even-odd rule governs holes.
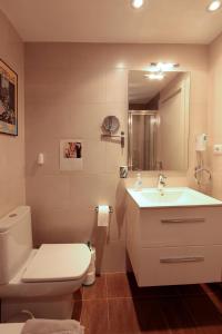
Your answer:
[[[18,136],[18,75],[1,59],[0,134]]]

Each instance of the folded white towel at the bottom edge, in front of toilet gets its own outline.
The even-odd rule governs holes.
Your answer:
[[[28,320],[21,334],[83,334],[84,327],[74,320]]]

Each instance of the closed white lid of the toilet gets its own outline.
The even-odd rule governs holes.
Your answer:
[[[91,252],[84,244],[43,244],[26,268],[22,282],[78,279],[90,261]]]

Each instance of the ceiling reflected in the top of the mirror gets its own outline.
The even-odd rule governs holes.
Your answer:
[[[149,80],[144,77],[144,75],[148,75],[147,71],[129,71],[129,102],[148,104],[179,73],[181,72],[165,72],[165,77],[163,80]]]

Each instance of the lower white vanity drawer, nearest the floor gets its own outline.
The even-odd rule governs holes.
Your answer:
[[[222,246],[140,249],[139,286],[221,282]]]

